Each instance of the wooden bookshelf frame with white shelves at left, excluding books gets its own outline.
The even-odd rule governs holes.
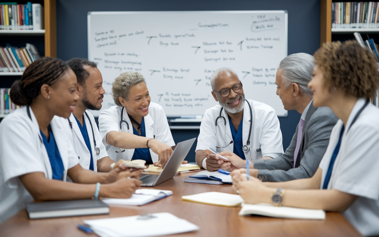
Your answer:
[[[25,4],[27,1],[19,1]],[[44,30],[0,30],[0,45],[10,43],[15,47],[25,47],[25,43],[37,46],[40,55],[56,57],[56,0],[32,0],[44,6]],[[0,88],[10,88],[22,72],[0,72]],[[6,115],[0,115],[0,121]]]

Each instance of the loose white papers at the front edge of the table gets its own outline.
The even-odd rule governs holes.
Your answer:
[[[85,220],[100,237],[160,236],[196,231],[199,226],[171,213],[161,212],[132,217]]]

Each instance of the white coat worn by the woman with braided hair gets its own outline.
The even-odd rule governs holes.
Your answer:
[[[47,179],[53,176],[38,122],[31,109],[29,118],[27,108],[15,110],[0,123],[0,222],[33,201],[19,176],[33,172],[42,172]],[[67,170],[79,163],[72,135],[66,129],[68,121],[54,116],[50,126],[64,166],[63,181],[66,181]]]

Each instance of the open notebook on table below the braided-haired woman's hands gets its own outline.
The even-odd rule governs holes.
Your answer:
[[[141,206],[170,195],[172,195],[170,190],[141,188],[137,189],[131,198],[103,198],[102,201],[106,204]]]

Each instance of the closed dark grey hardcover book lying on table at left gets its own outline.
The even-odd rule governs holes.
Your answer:
[[[107,204],[92,199],[29,203],[26,210],[30,219],[109,213]]]

